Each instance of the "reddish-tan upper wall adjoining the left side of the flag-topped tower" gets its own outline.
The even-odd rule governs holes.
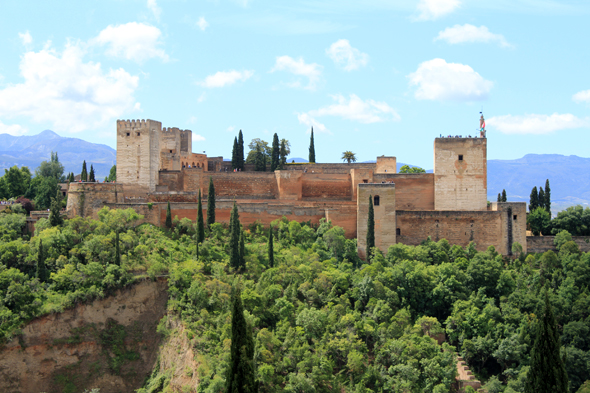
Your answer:
[[[395,205],[398,210],[434,210],[434,174],[375,174],[375,183],[395,183]]]

